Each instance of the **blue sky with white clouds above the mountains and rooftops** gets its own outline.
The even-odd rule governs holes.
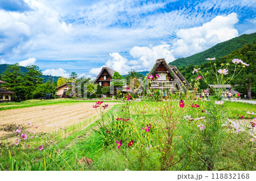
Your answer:
[[[149,70],[256,32],[256,1],[0,1],[0,64],[96,77]],[[67,23],[68,27],[64,22]]]

